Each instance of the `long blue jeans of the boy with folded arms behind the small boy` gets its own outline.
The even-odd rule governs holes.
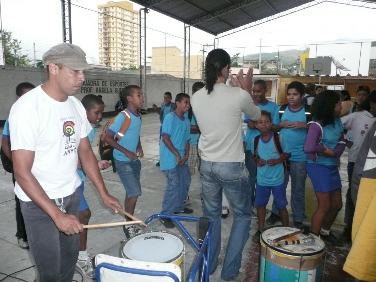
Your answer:
[[[289,176],[291,176],[291,209],[293,211],[294,222],[303,222],[307,215],[305,214],[305,182],[307,179],[307,162],[290,161],[290,171],[286,177],[286,185]],[[273,214],[279,215],[278,209],[274,205],[271,208]]]

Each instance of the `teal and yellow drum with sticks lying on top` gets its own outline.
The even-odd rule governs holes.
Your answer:
[[[277,237],[284,236],[299,228],[272,226],[261,233],[260,282],[319,282],[325,257],[325,244],[316,235],[299,234],[288,240],[302,241],[314,237],[314,243],[270,246]]]

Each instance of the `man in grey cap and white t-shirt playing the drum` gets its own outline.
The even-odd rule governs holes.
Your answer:
[[[61,43],[43,56],[48,80],[18,99],[9,115],[12,158],[36,280],[71,282],[79,253],[79,214],[83,170],[103,203],[121,205],[106,190],[88,134],[92,127],[73,97],[92,68],[77,45]]]

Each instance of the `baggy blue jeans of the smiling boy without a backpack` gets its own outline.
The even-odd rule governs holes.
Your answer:
[[[191,173],[188,164],[177,165],[170,170],[163,171],[167,177],[167,188],[163,197],[161,214],[174,214],[183,211],[183,201],[188,196],[191,185]]]

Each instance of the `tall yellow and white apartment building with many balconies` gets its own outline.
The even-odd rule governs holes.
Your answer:
[[[127,1],[98,5],[99,63],[112,70],[139,68],[138,11]]]

